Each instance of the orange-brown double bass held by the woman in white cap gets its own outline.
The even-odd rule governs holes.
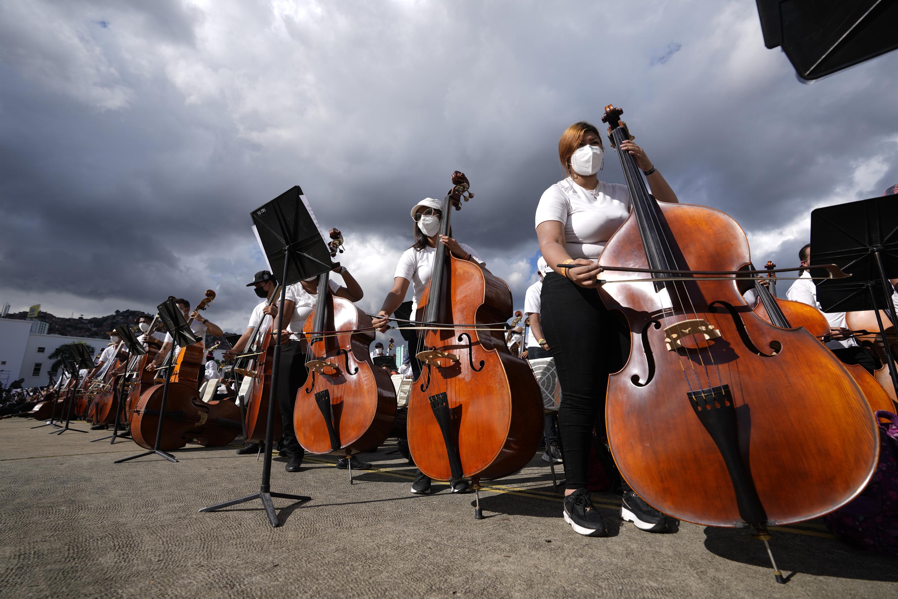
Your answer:
[[[440,234],[470,198],[453,172]],[[455,258],[437,239],[433,274],[418,300],[421,373],[409,393],[409,451],[431,479],[497,479],[530,461],[542,435],[542,400],[530,366],[505,344],[512,296],[505,281]],[[480,501],[475,517],[480,519]]]

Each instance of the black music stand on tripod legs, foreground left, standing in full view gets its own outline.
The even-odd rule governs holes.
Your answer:
[[[269,203],[253,210],[250,215],[256,225],[262,247],[268,257],[272,272],[281,270],[280,304],[286,300],[286,286],[304,278],[316,277],[339,266],[330,262],[330,251],[314,217],[303,201],[299,186],[288,189]],[[284,313],[277,313],[277,337],[284,330]],[[258,493],[232,499],[215,506],[204,507],[200,512],[214,512],[223,507],[236,506],[253,499],[260,499],[272,526],[280,526],[271,498],[308,501],[304,495],[288,495],[271,490],[271,454],[275,436],[275,401],[277,399],[277,374],[280,367],[281,344],[275,345],[274,362],[271,365],[271,391],[269,392],[269,419],[265,427],[265,460],[262,463],[262,483]]]

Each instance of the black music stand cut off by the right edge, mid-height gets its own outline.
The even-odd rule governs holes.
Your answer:
[[[823,312],[873,310],[885,346],[885,360],[898,392],[898,371],[879,310],[898,324],[890,278],[898,277],[898,203],[891,196],[862,199],[811,212],[811,266],[835,264],[849,279],[817,283]],[[814,269],[811,274],[815,275]],[[825,276],[825,275],[821,275]]]

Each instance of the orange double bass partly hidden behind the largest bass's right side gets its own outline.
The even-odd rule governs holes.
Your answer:
[[[776,265],[768,262],[765,268],[773,269],[776,268]],[[768,278],[773,277],[775,276],[771,272]],[[770,322],[773,326],[780,329],[804,327],[816,339],[828,337],[832,332],[829,321],[813,305],[775,297],[770,293],[770,289],[766,285],[761,284],[760,280],[755,281],[754,288],[758,294],[758,304],[754,307],[754,313],[765,321]],[[876,410],[895,411],[895,404],[892,398],[873,375],[867,372],[864,366],[844,363],[842,363],[842,366],[849,372],[854,382],[858,383],[860,391],[864,393],[864,397],[867,399],[867,403],[874,414]]]

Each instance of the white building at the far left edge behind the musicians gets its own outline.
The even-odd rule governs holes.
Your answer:
[[[26,388],[47,384],[47,372],[55,361],[49,355],[61,345],[83,341],[93,347],[93,357],[97,357],[110,342],[109,339],[39,335],[31,333],[33,324],[0,318],[0,383],[4,387],[20,378],[25,379],[22,387]]]

